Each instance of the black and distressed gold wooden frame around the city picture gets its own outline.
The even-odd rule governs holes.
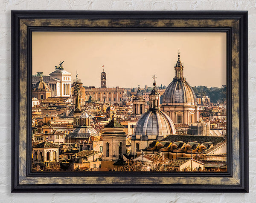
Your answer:
[[[32,172],[33,31],[227,33],[227,172]],[[249,192],[247,11],[12,11],[12,192]]]

